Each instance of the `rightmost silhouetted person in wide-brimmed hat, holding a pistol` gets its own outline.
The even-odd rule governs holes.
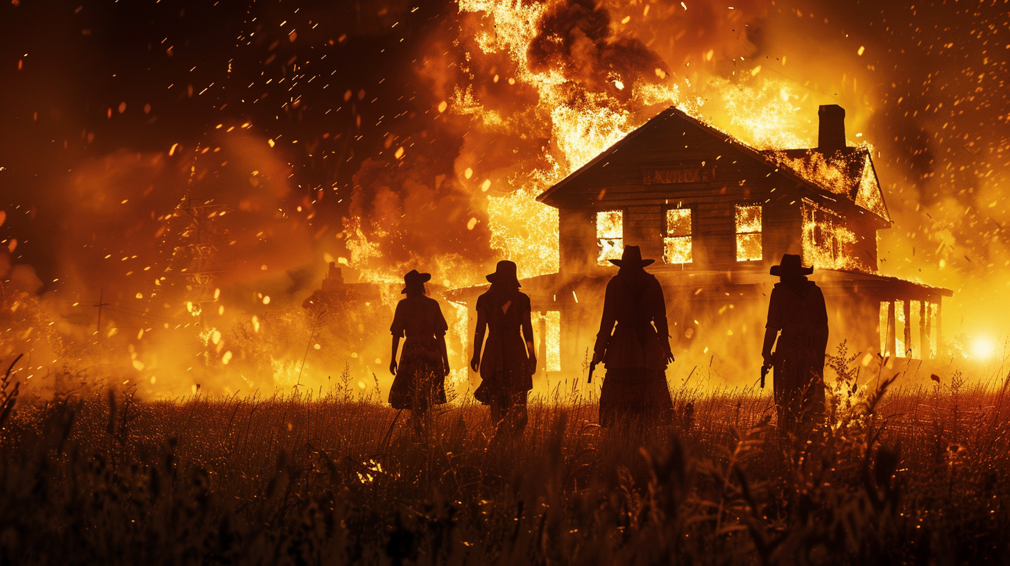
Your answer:
[[[762,349],[765,367],[775,369],[772,378],[779,430],[794,436],[809,432],[824,414],[827,309],[820,287],[806,278],[813,271],[792,254],[783,255],[781,264],[772,266],[772,275],[779,276],[781,282],[776,283],[769,300]]]

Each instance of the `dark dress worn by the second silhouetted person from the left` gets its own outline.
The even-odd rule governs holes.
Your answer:
[[[474,397],[503,409],[525,405],[533,388],[526,355],[526,342],[533,340],[529,296],[515,288],[492,285],[477,298],[477,312],[487,322],[488,338],[481,356],[481,385]]]

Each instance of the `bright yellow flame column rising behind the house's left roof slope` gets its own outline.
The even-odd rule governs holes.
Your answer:
[[[552,5],[512,0],[460,2],[460,11],[478,20],[473,40],[479,51],[485,56],[507,54],[513,66],[510,84],[514,81],[535,90],[535,104],[522,119],[533,116],[542,120],[550,139],[540,156],[539,167],[513,174],[506,180],[509,186],[520,187],[518,190],[488,200],[491,246],[504,257],[516,260],[521,277],[559,269],[558,213],[535,202],[536,195],[640,125],[642,120],[629,108],[669,105],[680,100],[679,87],[674,84],[635,82],[630,89],[630,100],[621,102],[614,93],[579,87],[566,78],[561,68],[534,70],[529,48],[539,33],[537,23]],[[624,91],[628,85],[627,80],[616,74],[610,80],[615,87],[620,85],[618,91]],[[489,109],[475,95],[473,85],[457,86],[454,92],[456,113],[480,115],[489,131],[514,133],[517,129],[515,119],[519,118],[507,118]],[[600,239],[601,265],[610,258],[620,257],[621,235],[607,232]]]

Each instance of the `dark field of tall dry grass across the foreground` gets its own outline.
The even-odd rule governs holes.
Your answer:
[[[677,390],[676,422],[645,439],[561,392],[531,404],[517,441],[462,396],[424,436],[346,389],[19,402],[0,444],[0,560],[1010,561],[1003,384],[881,396],[842,373],[822,442],[801,447],[769,427],[760,389]]]

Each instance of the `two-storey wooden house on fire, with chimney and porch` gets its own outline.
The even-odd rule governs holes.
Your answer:
[[[815,267],[831,344],[933,358],[951,292],[878,273],[877,230],[892,220],[871,151],[846,146],[840,106],[819,118],[817,148],[758,151],[670,107],[540,194],[559,210],[561,267],[521,283],[546,371],[578,371],[625,244],[656,260],[675,354],[756,355],[769,268],[789,253]],[[482,290],[450,298],[473,305]]]

